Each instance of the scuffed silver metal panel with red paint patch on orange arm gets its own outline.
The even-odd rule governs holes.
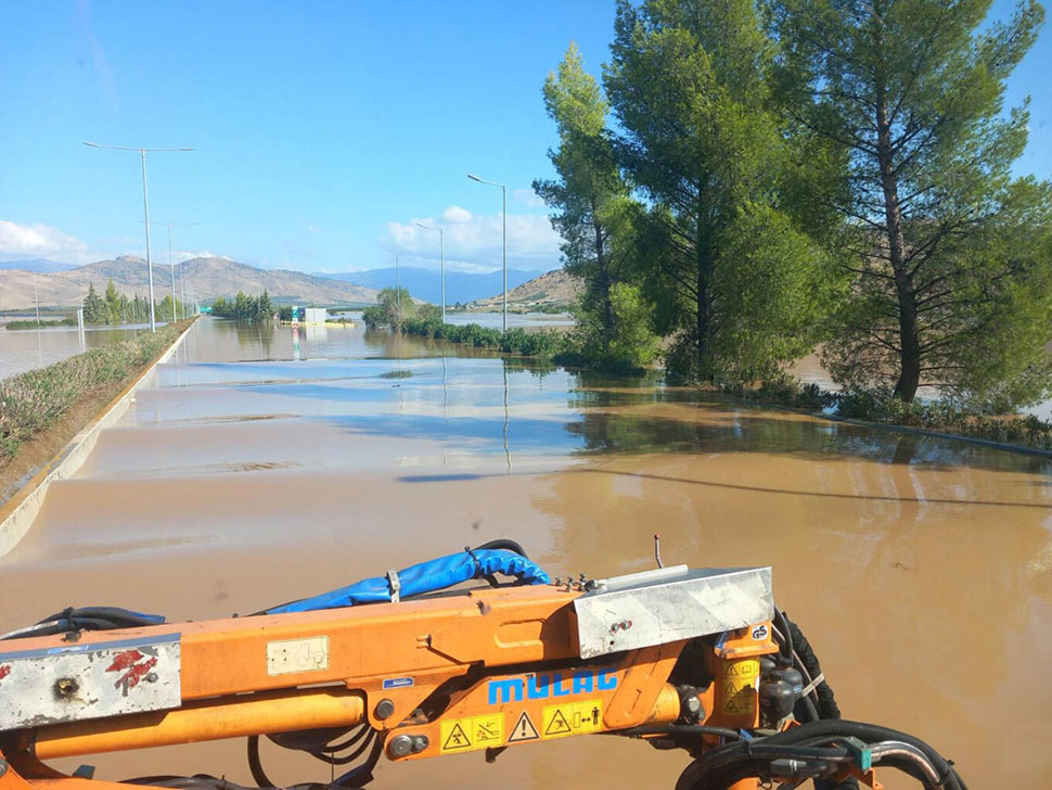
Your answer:
[[[179,634],[0,652],[0,731],[181,703]]]

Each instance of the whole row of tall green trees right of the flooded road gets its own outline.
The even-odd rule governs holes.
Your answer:
[[[1014,177],[1024,0],[619,0],[602,82],[544,84],[552,208],[593,357],[695,380],[922,382],[1001,408],[1052,382],[1052,189]],[[615,123],[611,123],[611,116]]]

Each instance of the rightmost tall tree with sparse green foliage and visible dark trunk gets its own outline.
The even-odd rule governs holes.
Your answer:
[[[825,346],[834,375],[903,400],[922,382],[1001,408],[1043,397],[1052,196],[1013,180],[1028,113],[1003,106],[1041,7],[1024,0],[992,24],[989,0],[767,8],[794,133],[845,162],[825,190],[849,220],[839,247],[854,279]]]

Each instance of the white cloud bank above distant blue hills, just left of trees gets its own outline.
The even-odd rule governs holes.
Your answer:
[[[458,217],[458,221],[451,220]],[[442,221],[445,220],[445,222]],[[416,225],[442,225],[446,231],[446,265],[463,271],[493,271],[501,265],[501,216],[473,215],[450,206],[442,219],[412,217],[406,222],[387,222],[381,244],[405,256],[412,266],[438,266],[436,233]],[[512,268],[559,267],[559,234],[548,217],[536,214],[508,215],[508,265]]]

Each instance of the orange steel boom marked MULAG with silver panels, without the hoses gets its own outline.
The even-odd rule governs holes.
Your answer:
[[[0,641],[0,790],[101,788],[41,761],[242,736],[318,756],[357,731],[373,763],[593,734],[700,756],[788,723],[761,715],[773,611],[769,569],[680,568]]]

